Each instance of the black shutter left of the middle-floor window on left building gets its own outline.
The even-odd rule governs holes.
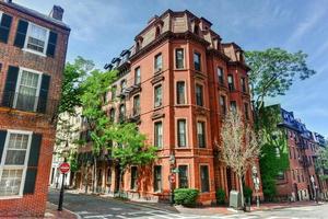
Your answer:
[[[20,69],[14,66],[9,66],[8,68],[7,80],[2,95],[2,106],[12,107],[19,77],[19,70]]]

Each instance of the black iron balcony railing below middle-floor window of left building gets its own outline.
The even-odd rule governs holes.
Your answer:
[[[23,112],[33,112],[54,117],[57,114],[59,100],[36,96],[17,92],[0,92],[0,106]]]

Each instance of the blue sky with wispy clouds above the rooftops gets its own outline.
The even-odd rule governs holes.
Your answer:
[[[309,130],[328,137],[328,1],[327,0],[13,0],[48,14],[65,9],[71,27],[68,61],[77,56],[103,68],[133,44],[150,18],[167,9],[189,10],[213,23],[223,42],[244,50],[281,47],[308,54],[316,74],[296,81],[286,95],[269,100],[293,111]]]

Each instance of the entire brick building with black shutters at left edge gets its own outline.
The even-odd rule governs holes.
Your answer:
[[[70,28],[0,1],[0,216],[42,217]]]

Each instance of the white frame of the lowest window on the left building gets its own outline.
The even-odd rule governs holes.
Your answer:
[[[26,153],[25,153],[24,165],[4,165],[5,157],[7,157],[7,152],[8,152],[9,137],[10,137],[11,134],[28,135],[28,141],[27,141],[27,148],[26,148]],[[19,195],[0,196],[0,199],[11,199],[11,198],[22,198],[23,197],[23,189],[24,189],[24,186],[25,186],[25,177],[26,177],[27,163],[28,163],[31,142],[32,142],[32,134],[33,134],[33,131],[26,131],[26,130],[14,130],[14,129],[8,129],[7,130],[4,148],[3,148],[3,153],[2,153],[1,163],[0,163],[0,181],[2,178],[3,169],[12,169],[12,170],[23,169],[23,173],[22,173],[22,182],[21,182],[21,187],[20,187]]]

